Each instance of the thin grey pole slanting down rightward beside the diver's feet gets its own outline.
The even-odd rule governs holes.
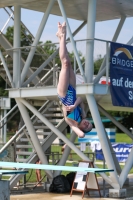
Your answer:
[[[76,46],[75,46],[75,41],[74,41],[73,35],[71,33],[71,29],[70,29],[70,26],[69,26],[69,23],[68,23],[68,20],[67,20],[66,12],[65,12],[65,9],[63,7],[62,1],[58,0],[58,4],[59,4],[59,7],[60,7],[62,16],[63,16],[63,18],[64,18],[64,20],[66,22],[66,25],[67,25],[67,30],[68,30],[68,33],[69,33],[69,37],[70,37],[70,40],[71,40],[71,44],[72,44],[72,47],[73,47],[73,51],[74,51],[75,57],[77,59],[77,63],[79,65],[81,76],[83,76],[83,80],[84,80],[84,82],[86,82],[86,78],[85,78],[85,75],[84,75],[83,67],[82,67],[82,64],[81,64],[81,61],[80,61],[80,58],[79,58],[79,55],[78,55],[78,51],[77,51]]]

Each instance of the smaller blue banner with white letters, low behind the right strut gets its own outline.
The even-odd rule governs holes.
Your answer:
[[[129,153],[133,147],[133,144],[113,144],[112,147],[116,154],[116,158],[117,158],[118,162],[126,162],[128,156],[129,156]],[[104,159],[102,149],[100,149],[100,150],[96,149],[95,153],[96,153],[97,160]]]

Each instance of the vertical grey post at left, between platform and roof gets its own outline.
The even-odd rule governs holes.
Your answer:
[[[21,22],[21,7],[18,5],[14,6],[14,48],[20,47],[20,22]],[[14,86],[18,87],[20,62],[19,62],[19,51],[13,51],[13,82]]]

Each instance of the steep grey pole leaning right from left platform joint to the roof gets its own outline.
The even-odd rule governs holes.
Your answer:
[[[55,2],[55,0],[50,0],[49,1],[48,7],[46,9],[46,12],[45,12],[43,18],[42,18],[40,27],[38,29],[38,32],[37,32],[36,37],[35,37],[35,40],[33,42],[33,46],[36,46],[38,44],[39,40],[40,40],[41,34],[42,34],[42,32],[44,30],[44,27],[46,25],[47,19],[48,19],[49,14],[50,14],[50,11],[53,8],[54,2]],[[35,51],[36,51],[36,47],[32,47],[31,50],[30,50],[30,53],[28,55],[28,58],[27,58],[27,60],[25,62],[22,74],[21,74],[21,83],[23,83],[23,81],[24,81],[24,79],[25,79],[25,77],[27,75],[27,71],[29,69],[29,66],[30,66],[30,63],[32,61],[32,58],[34,56]]]

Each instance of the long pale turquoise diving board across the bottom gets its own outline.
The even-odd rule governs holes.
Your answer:
[[[0,167],[15,167],[18,169],[43,169],[43,170],[57,170],[57,171],[76,171],[76,172],[90,172],[90,173],[104,173],[113,172],[114,169],[101,168],[87,168],[87,167],[68,167],[44,164],[30,164],[30,163],[15,163],[15,162],[0,162]]]

